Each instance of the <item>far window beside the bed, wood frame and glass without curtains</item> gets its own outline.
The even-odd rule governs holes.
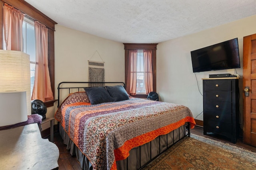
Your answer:
[[[129,64],[129,50],[137,50],[137,82],[136,95],[131,95],[138,98],[147,98],[145,84],[144,84],[144,61],[143,50],[152,50],[152,74],[153,74],[153,91],[156,91],[156,45],[157,44],[134,44],[124,43],[125,50],[125,84],[127,87],[128,64]],[[135,84],[134,84],[135,85]]]

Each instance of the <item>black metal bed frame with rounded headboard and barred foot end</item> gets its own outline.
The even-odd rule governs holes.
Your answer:
[[[76,88],[76,89],[78,89],[78,92],[79,92],[79,90],[81,89],[81,88],[86,88],[86,87],[88,87],[88,86],[85,86],[85,87],[60,87],[62,84],[89,84],[89,83],[92,83],[92,84],[98,84],[98,83],[104,83],[104,84],[122,84],[124,87],[125,87],[125,84],[124,84],[124,82],[60,82],[59,84],[58,84],[58,107],[60,106],[60,89],[69,89],[68,90],[68,92],[70,93],[70,89],[74,89],[74,88]],[[183,131],[184,131],[184,133],[183,133],[183,135],[182,136],[180,136],[181,135],[181,133],[180,133],[180,128],[183,126]],[[144,164],[144,165],[142,165],[142,163],[141,163],[141,147],[143,146],[139,146],[139,160],[140,160],[140,162],[139,162],[139,164],[140,164],[140,168],[139,168],[139,170],[140,169],[142,169],[142,168],[144,168],[145,166],[147,166],[150,162],[152,162],[155,158],[157,158],[160,154],[162,154],[163,152],[165,152],[167,149],[169,149],[170,147],[172,147],[174,144],[176,144],[178,141],[180,141],[181,139],[183,139],[184,137],[186,137],[186,136],[188,136],[188,137],[190,137],[190,123],[189,122],[187,122],[187,124],[184,124],[184,125],[182,125],[181,127],[179,127],[178,129],[175,129],[175,130],[173,130],[173,131],[171,131],[170,133],[172,133],[172,135],[173,135],[173,137],[172,137],[172,144],[169,144],[168,145],[168,134],[166,134],[166,146],[164,146],[164,148],[165,149],[163,149],[163,150],[161,150],[161,144],[160,144],[160,137],[163,137],[164,135],[161,135],[161,136],[158,136],[156,139],[154,139],[154,140],[158,140],[158,150],[159,150],[159,153],[156,155],[156,156],[154,156],[153,158],[152,158],[152,141],[150,141],[149,143],[150,143],[150,160],[149,160],[149,162],[147,162],[146,164]],[[174,131],[176,131],[176,130],[178,130],[178,139],[176,140],[176,141],[174,141]],[[144,145],[146,145],[146,144],[144,144]],[[128,156],[128,158],[126,158],[125,160],[120,160],[120,161],[126,161],[126,170],[129,170],[129,164],[128,164],[128,159],[130,159],[129,158],[130,156]],[[117,161],[117,162],[119,162],[119,161]],[[86,164],[86,163],[84,163],[84,164]],[[89,169],[88,169],[89,170]]]

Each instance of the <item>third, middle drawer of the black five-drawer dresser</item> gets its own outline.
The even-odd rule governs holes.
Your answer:
[[[204,100],[204,110],[232,113],[232,103],[215,100]]]

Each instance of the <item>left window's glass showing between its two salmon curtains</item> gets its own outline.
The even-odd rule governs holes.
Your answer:
[[[35,29],[34,21],[24,18],[22,24],[23,31],[23,46],[24,53],[30,55],[30,81],[31,81],[31,95],[35,80],[35,66],[36,66],[36,46],[35,46]]]

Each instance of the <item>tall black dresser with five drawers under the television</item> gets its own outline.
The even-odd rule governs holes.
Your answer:
[[[203,79],[204,135],[215,133],[236,143],[239,130],[238,78]]]

